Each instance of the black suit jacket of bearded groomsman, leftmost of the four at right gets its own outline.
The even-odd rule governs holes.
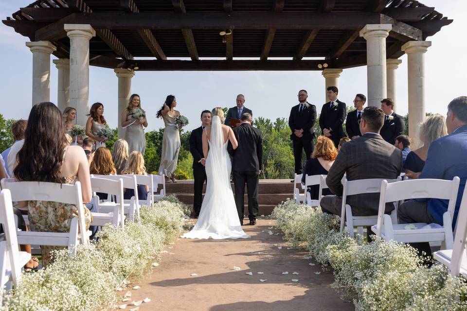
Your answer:
[[[306,102],[302,112],[299,112],[300,104],[293,106],[290,110],[290,116],[288,117],[288,126],[292,131],[290,139],[292,140],[312,140],[315,138],[315,132],[313,131],[313,125],[316,121],[316,106]],[[294,132],[295,130],[303,129],[303,136],[297,137]]]

